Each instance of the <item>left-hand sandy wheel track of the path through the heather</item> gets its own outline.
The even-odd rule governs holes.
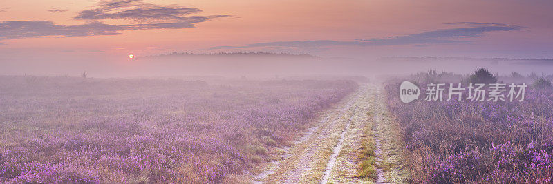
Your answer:
[[[335,108],[321,113],[315,127],[306,136],[296,141],[287,149],[281,161],[273,161],[266,168],[265,176],[256,177],[263,183],[320,183],[324,171],[332,156],[333,149],[339,143],[341,134],[360,103],[360,98],[366,96],[366,86],[357,90],[335,105]]]

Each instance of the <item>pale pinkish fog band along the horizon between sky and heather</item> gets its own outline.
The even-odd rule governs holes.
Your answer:
[[[551,74],[551,59],[468,57],[318,57],[310,54],[223,53],[162,54],[101,58],[2,59],[1,75],[86,76],[97,78],[217,76],[275,79],[301,76],[408,75],[427,70],[467,74],[487,68],[494,74]]]

